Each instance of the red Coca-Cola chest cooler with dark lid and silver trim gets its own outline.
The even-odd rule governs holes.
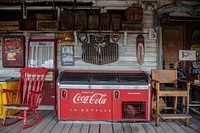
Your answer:
[[[151,120],[150,77],[144,71],[64,70],[56,93],[59,120]]]

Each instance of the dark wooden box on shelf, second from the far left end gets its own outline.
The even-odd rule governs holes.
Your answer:
[[[36,30],[36,20],[24,19],[20,22],[21,30]]]

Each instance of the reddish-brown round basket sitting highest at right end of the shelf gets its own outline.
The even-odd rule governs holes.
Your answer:
[[[129,7],[125,10],[125,16],[128,21],[142,21],[142,13],[141,7]]]

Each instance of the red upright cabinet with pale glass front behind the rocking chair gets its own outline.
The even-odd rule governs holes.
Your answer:
[[[45,67],[49,70],[44,83],[45,94],[41,105],[54,105],[57,77],[57,47],[55,39],[29,39],[28,67]]]

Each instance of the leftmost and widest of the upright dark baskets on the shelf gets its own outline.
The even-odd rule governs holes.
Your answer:
[[[60,12],[60,28],[61,30],[74,30],[74,12],[64,10]]]

